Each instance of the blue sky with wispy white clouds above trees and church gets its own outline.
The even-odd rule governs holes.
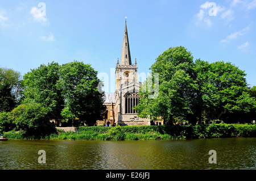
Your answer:
[[[121,58],[125,17],[138,73],[181,45],[194,60],[232,62],[256,86],[256,0],[0,0],[0,67],[24,75],[40,64],[77,60],[110,79]]]

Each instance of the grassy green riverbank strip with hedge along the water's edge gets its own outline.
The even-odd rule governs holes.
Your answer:
[[[150,125],[133,127],[78,127],[76,132],[57,129],[48,136],[7,132],[9,139],[51,140],[172,140],[187,138],[256,137],[256,124]]]

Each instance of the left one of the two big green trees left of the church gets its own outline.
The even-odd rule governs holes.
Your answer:
[[[31,102],[42,104],[52,119],[61,119],[61,110],[64,108],[64,98],[61,89],[56,86],[60,79],[60,65],[51,62],[40,65],[23,77],[24,95],[23,104]]]

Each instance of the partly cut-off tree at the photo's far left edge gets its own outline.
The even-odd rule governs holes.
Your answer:
[[[9,112],[18,103],[20,73],[13,69],[0,68],[0,112]]]

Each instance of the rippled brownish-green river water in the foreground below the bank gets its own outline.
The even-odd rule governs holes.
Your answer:
[[[45,151],[44,155],[38,154]],[[210,155],[209,151],[216,154]],[[0,169],[256,169],[256,138],[154,141],[0,141]],[[216,158],[216,163],[209,163]],[[216,157],[215,157],[216,156]],[[45,158],[46,163],[39,163]]]

